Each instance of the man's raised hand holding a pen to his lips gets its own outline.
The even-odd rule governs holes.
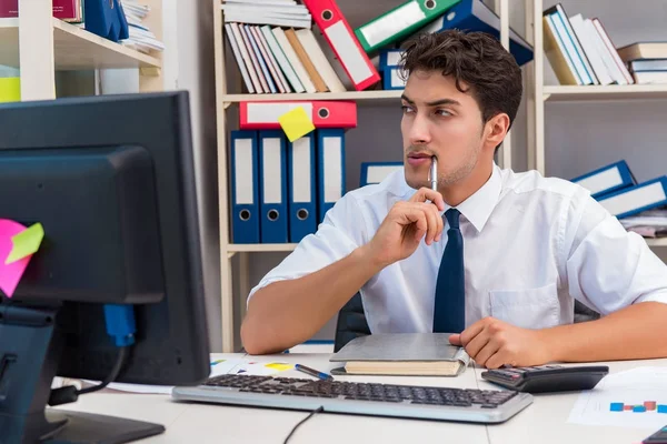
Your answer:
[[[424,236],[427,245],[438,242],[444,226],[439,214],[442,210],[442,195],[428,188],[419,189],[409,201],[397,202],[365,245],[369,258],[387,266],[410,256]]]

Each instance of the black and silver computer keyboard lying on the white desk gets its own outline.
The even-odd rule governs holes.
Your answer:
[[[500,423],[532,403],[532,395],[506,390],[312,381],[296,377],[222,375],[175,387],[179,401],[348,413],[407,418]]]

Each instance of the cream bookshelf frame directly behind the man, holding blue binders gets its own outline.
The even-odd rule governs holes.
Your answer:
[[[223,29],[223,12],[220,9],[222,0],[211,0],[213,12],[213,48],[215,48],[215,70],[216,70],[216,124],[217,124],[217,149],[218,149],[218,196],[219,196],[219,230],[220,230],[220,278],[221,278],[221,294],[220,294],[220,319],[222,325],[222,351],[235,351],[235,337],[240,329],[240,321],[245,315],[246,296],[251,289],[249,281],[250,256],[265,253],[289,253],[296,248],[296,244],[232,244],[230,243],[230,198],[229,198],[229,131],[237,128],[238,119],[233,113],[236,105],[241,101],[275,101],[275,100],[354,100],[359,108],[361,107],[385,107],[397,105],[402,91],[400,90],[378,90],[371,87],[364,91],[348,90],[346,92],[318,92],[318,93],[276,93],[276,94],[248,94],[237,93],[241,91],[241,80],[233,84],[233,91],[230,83],[231,72],[238,71],[233,57],[228,54],[229,47],[226,42],[226,33]],[[348,17],[352,28],[352,21],[358,17],[356,14],[370,14],[378,10],[389,10],[395,6],[400,4],[401,0],[384,1],[374,0],[364,4],[364,8],[358,2],[352,0],[337,0],[342,13]],[[488,0],[487,4],[491,6],[501,18],[501,42],[507,48],[509,46],[509,20],[508,8],[509,0]],[[370,18],[370,17],[369,17]],[[358,23],[361,24],[361,23]],[[315,27],[317,30],[317,27]],[[318,31],[319,32],[319,31]],[[335,61],[332,61],[335,62]],[[397,121],[396,124],[399,122]],[[362,131],[357,128],[352,131]],[[498,163],[500,165],[511,165],[511,135],[504,142],[499,155]],[[236,266],[233,261],[238,260]],[[235,280],[238,279],[238,282]],[[238,292],[235,292],[235,286],[238,286]],[[236,319],[236,304],[239,306],[240,317]],[[238,312],[237,312],[238,313]]]

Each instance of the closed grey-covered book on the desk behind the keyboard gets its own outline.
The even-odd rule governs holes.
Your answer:
[[[356,337],[329,361],[345,362],[332,374],[457,376],[470,363],[450,333],[381,333]]]

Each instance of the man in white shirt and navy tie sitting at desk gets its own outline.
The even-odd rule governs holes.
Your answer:
[[[495,164],[521,99],[514,58],[448,31],[402,64],[405,173],[346,194],[252,290],[246,350],[308,340],[360,290],[372,333],[456,333],[490,369],[667,356],[667,266],[645,241],[581,186]],[[601,319],[574,324],[575,300]]]

